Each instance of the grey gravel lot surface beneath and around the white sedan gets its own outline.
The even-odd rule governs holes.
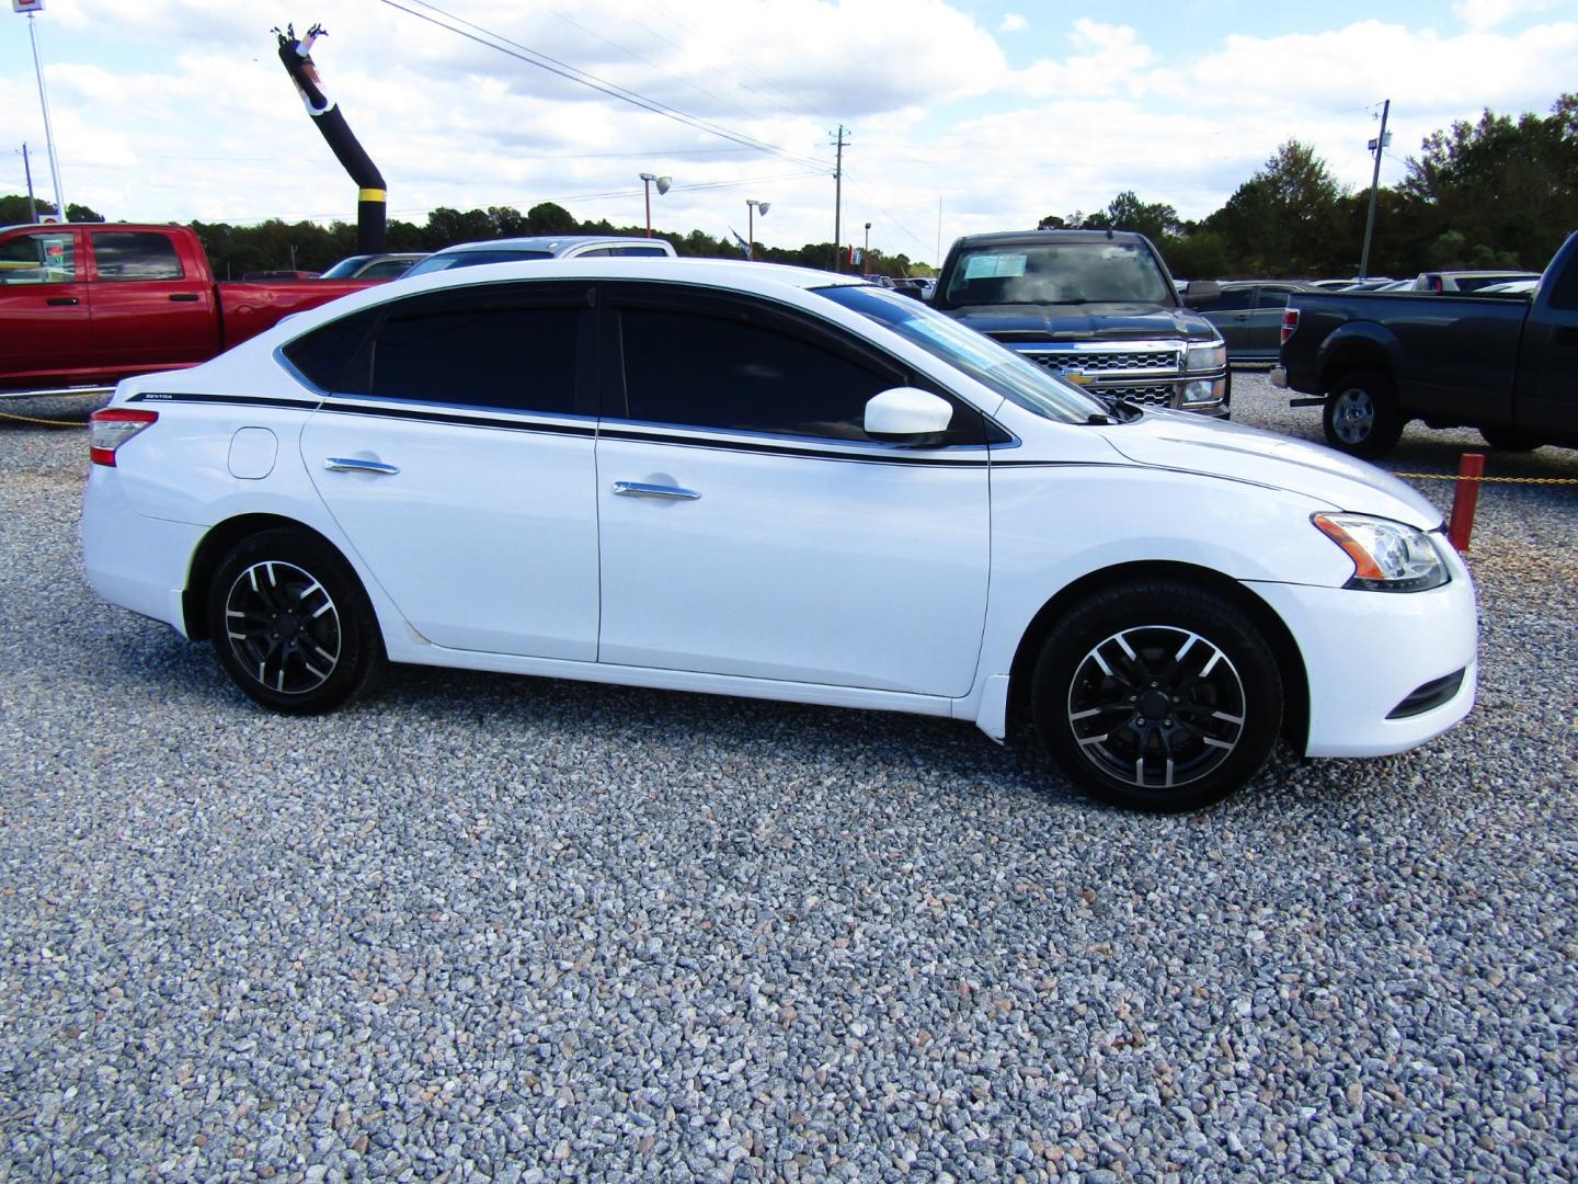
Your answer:
[[[939,720],[265,715],[87,589],[84,453],[0,425],[0,1178],[1578,1175],[1578,486],[1485,489],[1461,728],[1147,818]]]

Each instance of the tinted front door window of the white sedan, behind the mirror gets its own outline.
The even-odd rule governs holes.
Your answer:
[[[810,341],[721,316],[620,311],[633,420],[869,439],[866,401],[898,385]]]

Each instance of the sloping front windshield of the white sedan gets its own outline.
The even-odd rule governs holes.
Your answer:
[[[866,284],[814,290],[835,305],[885,325],[933,357],[964,371],[988,390],[1037,415],[1060,423],[1087,423],[1092,415],[1106,415],[1106,407],[1094,396],[918,300]]]

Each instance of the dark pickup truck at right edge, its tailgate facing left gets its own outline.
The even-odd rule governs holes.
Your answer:
[[[1409,420],[1493,448],[1578,447],[1578,234],[1529,295],[1300,292],[1272,384],[1318,398],[1326,440],[1384,456]]]

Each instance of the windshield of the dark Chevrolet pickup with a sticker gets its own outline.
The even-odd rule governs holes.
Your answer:
[[[963,305],[1174,305],[1144,243],[1064,242],[974,246],[959,253],[942,308]]]

